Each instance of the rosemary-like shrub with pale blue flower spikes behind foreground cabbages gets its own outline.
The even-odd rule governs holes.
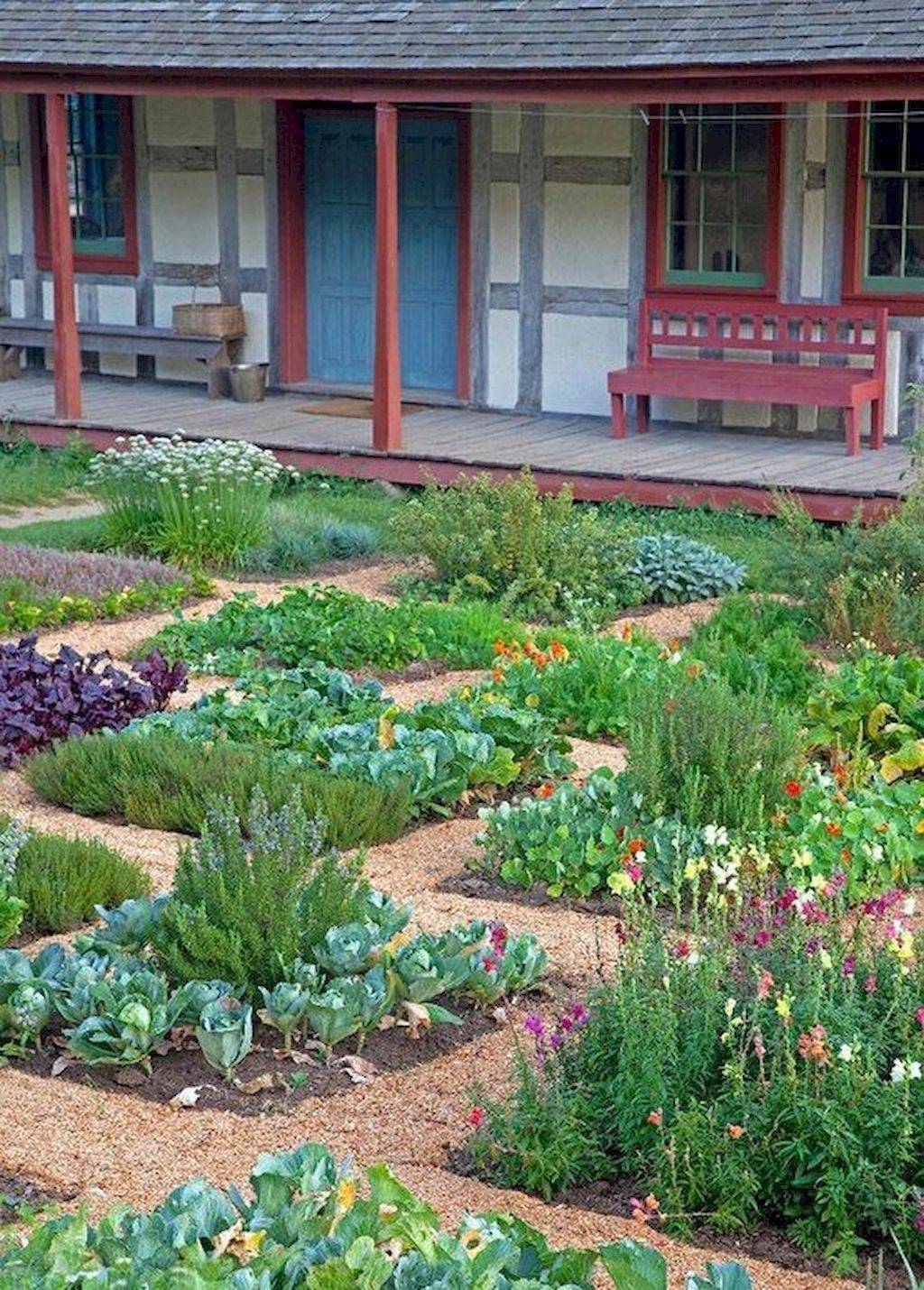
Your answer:
[[[183,848],[155,949],[179,983],[272,987],[283,964],[307,955],[330,928],[359,920],[368,894],[361,875],[361,858],[341,860],[298,800],[271,811],[256,789],[245,828],[223,804]]]

